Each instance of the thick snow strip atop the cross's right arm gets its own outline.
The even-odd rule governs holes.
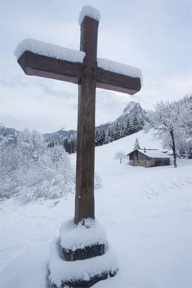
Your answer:
[[[138,77],[141,80],[141,86],[143,84],[142,71],[137,67],[129,66],[104,58],[97,58],[97,67],[125,76],[130,76],[134,78]]]

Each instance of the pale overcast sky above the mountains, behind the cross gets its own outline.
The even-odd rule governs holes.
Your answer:
[[[1,1],[1,123],[41,133],[76,129],[78,85],[27,76],[14,56],[33,38],[79,50],[84,5],[101,12],[97,56],[139,67],[133,96],[96,89],[96,125],[115,120],[129,101],[151,109],[191,92],[191,1]]]

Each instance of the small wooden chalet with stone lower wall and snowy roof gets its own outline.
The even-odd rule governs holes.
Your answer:
[[[129,154],[129,165],[155,167],[170,165],[169,156],[158,149],[136,149]]]

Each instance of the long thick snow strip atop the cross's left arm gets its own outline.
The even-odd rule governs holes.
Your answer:
[[[65,48],[31,38],[26,38],[17,45],[17,48],[14,52],[17,60],[25,51],[30,51],[34,54],[55,58],[57,60],[60,59],[79,63],[83,63],[83,58],[85,57],[85,52]]]

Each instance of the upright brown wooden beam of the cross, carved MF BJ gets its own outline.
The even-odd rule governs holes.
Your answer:
[[[83,59],[82,82],[78,85],[75,224],[83,218],[95,218],[95,95],[98,26],[98,21],[87,16],[81,24],[80,51],[84,51],[86,56]]]

